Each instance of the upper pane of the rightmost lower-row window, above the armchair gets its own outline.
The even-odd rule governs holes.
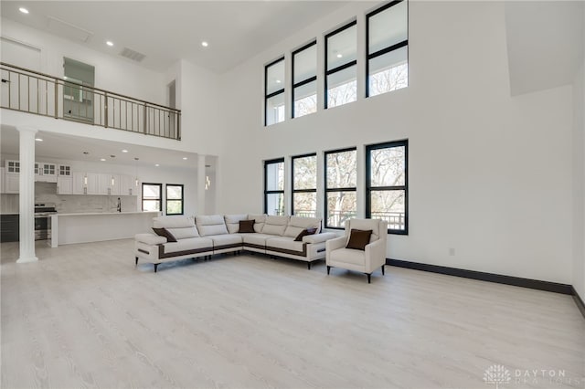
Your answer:
[[[369,162],[372,187],[401,186],[406,183],[404,146],[372,150]]]

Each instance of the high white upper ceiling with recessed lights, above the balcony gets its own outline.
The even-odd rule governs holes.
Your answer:
[[[164,71],[178,59],[225,72],[346,5],[342,1],[14,1],[3,17]],[[18,11],[26,7],[29,14]],[[105,42],[111,40],[113,47]],[[201,42],[207,41],[208,47]]]

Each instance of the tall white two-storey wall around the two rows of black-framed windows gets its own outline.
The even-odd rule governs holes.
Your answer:
[[[263,65],[356,15],[363,41],[367,6],[223,77],[218,209],[261,212],[264,159],[408,138],[410,235],[388,236],[388,258],[571,283],[571,88],[510,97],[502,3],[410,2],[409,88],[261,125]]]

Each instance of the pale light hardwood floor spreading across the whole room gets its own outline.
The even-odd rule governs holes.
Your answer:
[[[22,265],[0,248],[2,388],[495,388],[494,364],[500,388],[585,387],[569,296],[392,267],[368,285],[259,255],[154,274],[132,240]]]

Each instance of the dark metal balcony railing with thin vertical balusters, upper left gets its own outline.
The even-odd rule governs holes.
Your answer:
[[[181,140],[181,111],[0,62],[0,106]]]

